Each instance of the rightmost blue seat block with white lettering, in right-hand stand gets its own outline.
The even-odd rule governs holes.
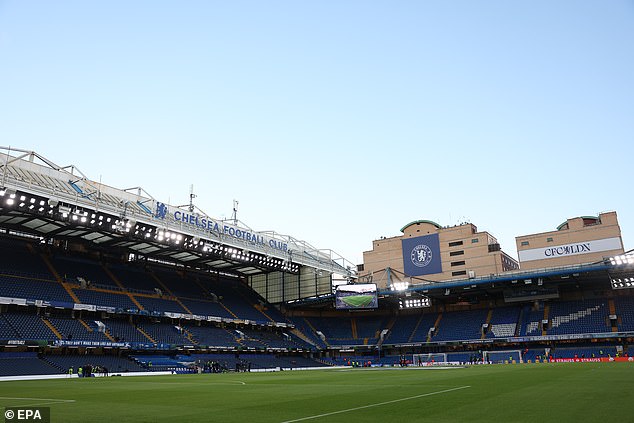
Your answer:
[[[550,305],[548,335],[610,332],[607,300],[558,301]]]

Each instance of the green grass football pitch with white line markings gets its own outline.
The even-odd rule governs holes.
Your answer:
[[[629,422],[634,364],[328,369],[0,382],[51,422]]]

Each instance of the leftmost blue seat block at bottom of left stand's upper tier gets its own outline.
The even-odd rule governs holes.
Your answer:
[[[64,287],[53,280],[12,275],[0,275],[0,297],[73,302]]]

